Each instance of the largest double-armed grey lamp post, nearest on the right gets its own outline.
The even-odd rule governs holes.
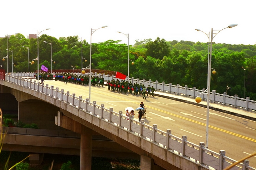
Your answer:
[[[231,24],[226,28],[233,28],[235,26],[238,26],[238,24]],[[226,29],[223,28],[222,30]],[[200,29],[196,29],[197,31],[201,31]],[[220,30],[220,31],[222,31]],[[209,129],[209,111],[210,111],[210,89],[211,89],[211,70],[212,68],[212,44],[213,44],[213,38],[220,32],[217,30],[213,30],[211,31],[211,44],[210,44],[210,56],[208,53],[208,73],[207,73],[207,115],[206,115],[206,135],[205,135],[205,146],[206,148],[208,148],[208,129]],[[204,32],[205,33],[205,32]],[[206,34],[206,33],[205,33]],[[213,36],[214,34],[214,36]],[[206,34],[207,35],[207,34]],[[209,40],[210,40],[210,35],[207,35]],[[208,43],[209,45],[209,43]],[[208,47],[209,50],[209,47]],[[215,69],[213,70],[213,74],[215,74]],[[206,90],[204,92],[206,92]],[[202,92],[202,93],[204,93]]]

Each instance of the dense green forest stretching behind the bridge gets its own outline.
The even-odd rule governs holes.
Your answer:
[[[7,56],[7,41],[8,37],[0,39],[1,58]],[[216,74],[211,75],[211,91],[223,94],[228,86],[231,88],[228,95],[237,94],[244,98],[245,91],[245,97],[256,100],[256,45],[213,42],[212,49],[212,68]],[[13,51],[13,56],[9,51],[9,72],[12,71],[12,60],[15,63],[13,72],[28,72],[29,62],[37,58],[37,39],[27,39],[22,34],[12,35],[9,37],[9,50]],[[127,75],[127,50],[127,45],[119,40],[93,43],[92,69],[118,71]],[[43,34],[39,37],[39,67],[43,64],[51,68],[52,52],[52,60],[55,61],[55,64],[52,62],[53,70],[72,69],[71,65],[81,69],[81,51],[87,60],[83,61],[83,67],[86,67],[90,63],[90,44],[86,40],[81,42],[78,36],[56,39]],[[208,42],[166,42],[159,37],[154,41],[136,40],[134,45],[129,46],[129,58],[134,62],[129,64],[129,77],[187,85],[189,88],[207,87]],[[30,72],[37,71],[37,61],[35,63],[30,65]],[[0,65],[7,71],[7,60],[0,60]]]

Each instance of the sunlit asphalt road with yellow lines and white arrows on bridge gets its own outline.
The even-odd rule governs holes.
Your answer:
[[[45,80],[44,84],[64,89],[70,94],[89,98],[89,87],[61,81]],[[173,101],[162,97],[149,97],[146,100],[142,95],[121,94],[108,91],[105,87],[91,87],[91,101],[97,105],[104,104],[105,108],[112,107],[114,111],[123,111],[126,107],[139,107],[144,102],[147,108],[145,123],[152,126],[157,124],[158,129],[171,129],[172,134],[180,137],[187,136],[187,140],[198,144],[205,142],[206,108]],[[138,116],[135,111],[134,118]],[[226,151],[226,156],[240,160],[256,152],[256,122],[223,112],[210,110],[208,149],[219,153]],[[249,158],[250,166],[256,168],[256,156]]]

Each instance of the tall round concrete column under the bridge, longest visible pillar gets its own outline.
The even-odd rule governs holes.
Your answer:
[[[80,170],[92,169],[92,133],[90,131],[89,133],[81,134]]]

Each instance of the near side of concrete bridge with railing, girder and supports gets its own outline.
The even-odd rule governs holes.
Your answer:
[[[80,134],[80,169],[91,169],[95,132],[140,155],[141,169],[222,170],[236,162],[225,156],[225,151],[215,153],[204,148],[202,142],[193,144],[186,136],[178,138],[171,130],[164,132],[156,124],[148,126],[143,121],[127,118],[121,111],[117,113],[104,105],[83,100],[81,96],[28,79],[6,77],[6,80],[0,81],[0,92],[15,96],[20,120]],[[36,119],[31,110],[37,110]],[[233,169],[245,168],[255,170],[248,166],[247,160]]]

